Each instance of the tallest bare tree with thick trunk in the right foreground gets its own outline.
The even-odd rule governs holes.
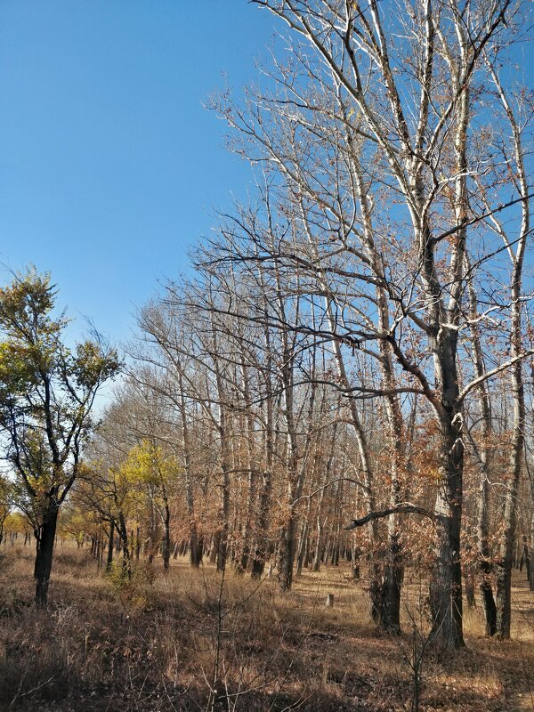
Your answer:
[[[506,368],[519,374],[524,356],[516,341],[510,358],[480,376],[466,374],[460,385],[458,336],[470,326],[465,255],[476,255],[471,270],[491,293],[489,263],[500,251],[486,222],[506,202],[497,181],[482,212],[472,199],[483,173],[474,152],[483,141],[476,119],[488,117],[488,102],[496,101],[490,88],[496,65],[487,58],[506,48],[517,7],[503,0],[460,9],[427,0],[386,16],[375,2],[257,4],[285,20],[291,54],[271,72],[273,93],[252,92],[246,109],[223,98],[218,109],[244,138],[238,150],[279,176],[272,190],[277,222],[287,228],[272,242],[262,239],[257,220],[238,220],[240,239],[234,234],[229,245],[226,231],[221,256],[271,273],[292,269],[301,275],[301,290],[330,300],[334,325],[316,329],[301,310],[298,328],[368,349],[382,363],[384,384],[374,394],[390,399],[392,432],[400,428],[393,396],[417,392],[432,408],[440,486],[431,601],[436,637],[457,647],[463,644],[463,404],[491,376]],[[505,125],[514,126],[513,116],[513,109],[505,112]],[[516,171],[519,202],[528,212],[527,183]],[[509,209],[517,202],[509,200]],[[514,310],[522,298],[521,269],[513,284],[490,310]],[[487,316],[476,320],[483,325]],[[373,394],[365,385],[349,387]],[[398,485],[392,489],[399,498]],[[398,525],[391,522],[394,536]]]

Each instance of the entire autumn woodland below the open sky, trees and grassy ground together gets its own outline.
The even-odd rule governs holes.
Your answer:
[[[531,10],[253,4],[131,338],[0,287],[0,708],[534,709]]]

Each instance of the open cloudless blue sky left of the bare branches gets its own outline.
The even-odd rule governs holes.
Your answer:
[[[52,271],[78,321],[128,336],[247,190],[202,101],[254,81],[272,38],[245,0],[1,0],[0,263]]]

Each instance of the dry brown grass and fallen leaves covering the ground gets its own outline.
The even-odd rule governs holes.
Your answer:
[[[305,571],[281,595],[269,579],[228,571],[222,579],[182,559],[163,575],[159,559],[125,586],[117,571],[102,576],[88,551],[65,544],[49,608],[37,611],[32,559],[29,546],[0,549],[2,710],[411,708],[410,660],[426,629],[422,583],[408,587],[404,633],[392,637],[369,620],[365,579],[352,582],[344,566]],[[425,652],[422,712],[534,710],[534,594],[524,579],[514,573],[511,642],[483,635],[479,608],[465,611],[465,649]]]

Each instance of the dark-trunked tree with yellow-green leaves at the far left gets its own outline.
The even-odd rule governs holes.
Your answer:
[[[95,428],[101,385],[117,374],[117,352],[100,339],[64,343],[49,274],[31,269],[0,288],[0,429],[36,527],[36,602],[46,603],[58,513]]]

